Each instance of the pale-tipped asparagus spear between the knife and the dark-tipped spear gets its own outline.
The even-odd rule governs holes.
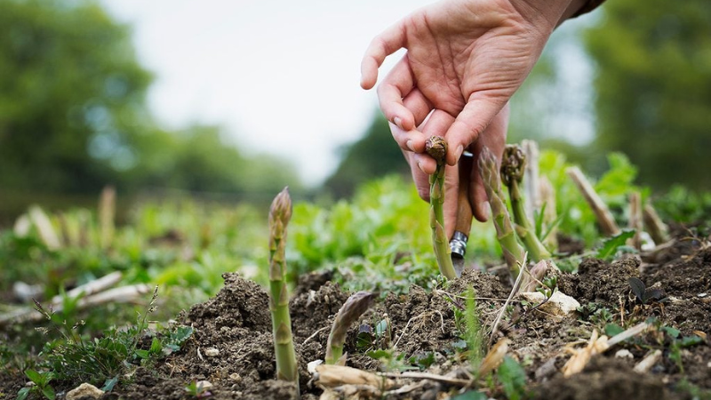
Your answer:
[[[491,205],[491,216],[496,228],[496,238],[499,240],[501,249],[504,252],[504,259],[508,265],[511,276],[518,276],[519,263],[523,265],[525,252],[521,244],[516,240],[514,227],[501,193],[501,180],[499,169],[496,166],[496,157],[489,148],[484,147],[479,156],[479,172],[482,174],[483,187],[486,189],[486,196],[489,197]]]

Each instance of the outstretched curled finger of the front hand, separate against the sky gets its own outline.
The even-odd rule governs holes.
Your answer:
[[[361,60],[361,87],[371,89],[378,81],[378,68],[385,58],[403,48],[405,45],[405,29],[402,22],[398,22],[383,33],[375,36],[363,54]]]

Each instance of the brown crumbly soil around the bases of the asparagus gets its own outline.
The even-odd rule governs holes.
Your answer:
[[[711,389],[711,348],[707,341],[707,335],[711,335],[711,249],[701,243],[685,243],[673,250],[668,253],[673,257],[667,254],[657,262],[650,262],[650,258],[641,262],[634,257],[614,262],[583,260],[577,274],[559,276],[558,287],[582,306],[594,303],[590,307],[606,308],[611,315],[607,323],[627,328],[654,317],[655,326],[677,329],[679,339],[696,336],[703,342],[674,353],[673,338],[659,329],[650,329],[593,357],[583,372],[563,378],[560,370],[570,357],[566,348],[582,347],[594,330],[605,329],[605,323],[595,322],[592,314],[585,313],[551,319],[546,313],[531,310],[531,305],[515,301],[495,340],[510,340],[508,355],[523,365],[527,396],[547,400],[691,399],[684,384]],[[660,288],[666,299],[643,304],[628,284],[633,276],[648,288]],[[209,398],[214,399],[297,398],[294,384],[275,380],[268,293],[237,274],[223,277],[225,286],[215,298],[177,318],[179,324],[195,328],[180,352],[150,369],[137,369],[128,383],[118,385],[104,398],[184,399],[188,398],[188,383],[199,380],[212,383]],[[302,399],[316,399],[323,393],[311,381],[307,364],[324,359],[330,326],[350,294],[333,284],[331,277],[328,273],[302,277],[290,304]],[[466,376],[468,361],[460,350],[455,309],[464,308],[461,297],[469,287],[476,292],[481,324],[491,327],[511,290],[510,283],[469,269],[449,286],[433,292],[412,286],[404,294],[382,293],[361,318],[361,324],[354,324],[348,332],[348,366],[371,372],[383,370],[378,360],[358,348],[356,337],[363,326],[373,328],[385,321],[387,332],[372,346],[393,348],[395,354],[404,354],[404,364],[409,364],[411,357],[430,356],[434,363],[424,372]],[[217,355],[213,349],[218,350]],[[623,349],[631,357],[616,356]],[[659,362],[649,372],[634,372],[635,364],[653,349],[662,350]],[[674,361],[675,355],[680,356],[681,363]],[[0,392],[17,393],[25,380],[0,374],[0,382]],[[78,386],[81,382],[70,383]],[[493,380],[481,380],[478,388],[488,396],[506,398],[501,385]],[[439,399],[457,393],[456,386],[427,380],[411,391],[385,398]]]

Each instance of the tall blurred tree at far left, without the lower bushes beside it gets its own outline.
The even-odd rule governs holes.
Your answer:
[[[96,192],[132,169],[150,74],[86,1],[0,2],[0,186]]]

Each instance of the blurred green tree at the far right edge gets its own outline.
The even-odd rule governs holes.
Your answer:
[[[654,186],[711,188],[711,2],[617,0],[586,35],[600,148]]]

